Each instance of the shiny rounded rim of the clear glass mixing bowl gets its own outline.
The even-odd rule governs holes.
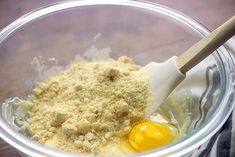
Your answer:
[[[177,20],[179,22],[183,22],[190,28],[197,31],[202,36],[206,36],[209,34],[209,30],[206,29],[203,25],[198,23],[197,21],[191,19],[190,17],[182,14],[179,11],[176,11],[174,9],[165,7],[163,5],[159,5],[152,2],[147,1],[134,1],[134,0],[86,0],[86,1],[64,1],[64,2],[58,2],[51,5],[47,5],[45,7],[41,7],[39,9],[33,10],[29,12],[28,14],[23,15],[22,17],[18,18],[11,24],[9,24],[7,27],[2,29],[0,32],[0,44],[12,33],[14,33],[18,28],[24,26],[25,24],[29,23],[32,20],[37,20],[40,17],[43,17],[45,15],[49,15],[51,13],[59,12],[61,10],[76,8],[76,7],[83,7],[83,6],[100,6],[100,5],[112,5],[112,6],[129,6],[133,8],[143,9],[143,10],[149,10],[157,13],[164,14],[168,17],[173,18],[174,20]],[[225,82],[222,82],[222,86],[224,86],[223,90],[226,91],[226,96],[224,99],[221,100],[220,107],[217,109],[218,115],[225,114],[226,116],[223,117],[221,120],[221,117],[214,116],[207,125],[205,125],[201,130],[196,132],[190,139],[185,139],[184,141],[181,141],[178,144],[173,144],[166,146],[164,148],[150,151],[146,153],[138,154],[138,156],[181,156],[183,154],[189,153],[193,149],[199,147],[201,144],[208,141],[225,123],[225,121],[228,119],[229,115],[232,112],[233,104],[229,108],[228,111],[224,111],[226,107],[226,103],[228,101],[231,101],[230,103],[233,103],[234,100],[230,100],[229,97],[231,95],[234,96],[234,85],[232,83],[234,82],[233,79],[230,78],[230,73],[234,73],[234,63],[231,55],[226,51],[226,49],[221,46],[217,49],[217,53],[213,54],[215,58],[217,58],[218,63],[220,64],[220,70],[224,71],[225,73]],[[223,62],[223,64],[222,64]],[[231,64],[231,65],[230,65]],[[224,84],[223,84],[224,83]],[[225,99],[226,98],[226,99]],[[214,129],[213,124],[220,122],[217,127]],[[208,132],[208,130],[211,130],[209,133],[205,134],[205,132]],[[10,128],[9,125],[7,125],[2,117],[0,117],[0,137],[3,138],[5,141],[7,141],[9,144],[17,148],[18,150],[33,156],[46,156],[46,155],[54,155],[54,156],[79,156],[78,154],[74,153],[65,153],[63,151],[59,151],[52,148],[47,148],[45,146],[42,146],[34,141],[31,141],[27,139],[26,137],[22,136],[20,133],[15,132]],[[203,138],[199,138],[203,137]],[[14,140],[12,140],[14,139]],[[200,140],[199,140],[200,139]],[[167,152],[166,152],[167,150]],[[172,154],[174,153],[174,154]]]

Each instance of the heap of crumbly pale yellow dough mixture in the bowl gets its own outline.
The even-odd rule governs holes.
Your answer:
[[[42,144],[97,154],[144,117],[149,92],[144,69],[126,56],[78,61],[34,89],[28,131]]]

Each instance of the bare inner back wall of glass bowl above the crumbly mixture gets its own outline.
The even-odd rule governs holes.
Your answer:
[[[127,55],[145,65],[178,55],[200,38],[185,24],[136,8],[85,6],[56,12],[18,28],[1,43],[0,101],[30,94],[32,86],[25,81],[38,77],[35,57],[44,62],[43,71],[53,64],[49,58],[66,66],[94,46],[110,48],[113,58]]]

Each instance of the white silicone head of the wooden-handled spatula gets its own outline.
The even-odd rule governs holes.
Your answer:
[[[155,112],[176,86],[184,80],[185,74],[179,71],[176,58],[174,56],[163,63],[151,62],[145,66],[151,90],[146,116]]]

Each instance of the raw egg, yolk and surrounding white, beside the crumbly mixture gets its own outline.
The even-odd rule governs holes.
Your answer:
[[[129,134],[100,148],[99,155],[121,157],[166,146],[179,138],[179,130],[170,120],[156,114],[135,124]]]

